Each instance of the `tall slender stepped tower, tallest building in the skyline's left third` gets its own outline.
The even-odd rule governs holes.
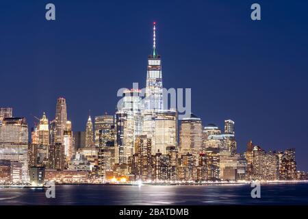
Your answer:
[[[63,97],[57,99],[55,108],[55,142],[64,144],[64,130],[66,128],[67,112],[66,100]]]

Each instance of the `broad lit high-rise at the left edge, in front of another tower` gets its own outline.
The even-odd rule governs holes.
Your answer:
[[[4,118],[0,124],[0,159],[21,163],[28,179],[28,125],[25,118]]]

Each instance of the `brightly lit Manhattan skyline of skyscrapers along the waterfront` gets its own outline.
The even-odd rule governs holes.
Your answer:
[[[46,181],[224,183],[307,179],[307,172],[296,164],[296,149],[266,151],[250,140],[245,153],[238,153],[233,120],[224,120],[224,130],[214,123],[203,125],[202,119],[190,111],[191,96],[185,95],[183,118],[172,104],[169,107],[164,103],[172,102],[175,94],[171,93],[168,100],[163,91],[156,25],[153,22],[153,52],[148,56],[144,97],[142,90],[125,88],[117,94],[122,98],[114,116],[94,116],[93,124],[89,110],[84,131],[74,132],[66,99],[60,96],[54,120],[49,123],[45,112],[42,118],[34,116],[39,123],[31,129],[27,149],[26,118],[14,117],[12,107],[0,108],[1,181],[42,185]],[[78,133],[77,137],[73,133]]]

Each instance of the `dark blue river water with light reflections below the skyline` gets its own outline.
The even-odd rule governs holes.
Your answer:
[[[56,185],[46,190],[0,188],[0,205],[308,205],[308,183],[261,185]]]

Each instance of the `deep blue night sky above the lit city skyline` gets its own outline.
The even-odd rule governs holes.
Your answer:
[[[54,3],[56,21],[46,21]],[[261,21],[251,20],[251,4]],[[119,88],[145,86],[152,24],[165,88],[192,88],[203,125],[235,121],[238,149],[296,148],[308,170],[308,1],[0,2],[0,107],[49,120],[67,101],[73,131],[114,114]]]

